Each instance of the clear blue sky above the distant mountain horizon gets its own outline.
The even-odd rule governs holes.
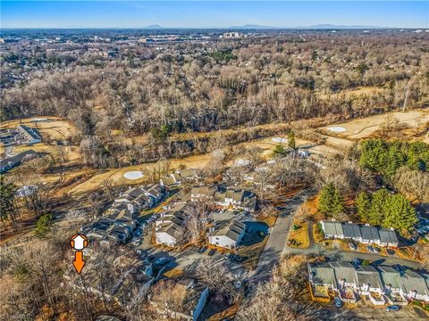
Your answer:
[[[429,1],[4,1],[1,28],[225,28],[315,24],[429,28]]]

